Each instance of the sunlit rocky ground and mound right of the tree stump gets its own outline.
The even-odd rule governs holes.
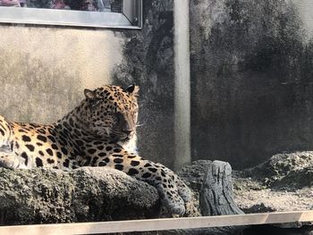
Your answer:
[[[233,179],[234,200],[245,213],[313,209],[313,152],[274,155],[256,167],[233,172]]]

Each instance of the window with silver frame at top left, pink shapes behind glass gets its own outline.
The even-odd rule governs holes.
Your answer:
[[[0,0],[0,22],[140,29],[141,4],[142,0]]]

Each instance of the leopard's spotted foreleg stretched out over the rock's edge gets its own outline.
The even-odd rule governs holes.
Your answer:
[[[98,159],[97,165],[108,166],[126,172],[138,180],[147,181],[157,188],[162,201],[171,213],[185,213],[184,200],[180,194],[187,195],[188,193],[182,191],[183,189],[188,189],[188,187],[182,187],[180,183],[179,187],[181,188],[178,189],[175,182],[181,181],[177,180],[177,176],[173,171],[162,164],[155,164],[139,155],[129,154],[123,149],[114,150],[118,154],[112,153]]]

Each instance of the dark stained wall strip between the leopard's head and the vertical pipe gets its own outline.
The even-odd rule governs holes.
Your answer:
[[[143,4],[144,25],[129,31],[114,84],[140,86],[140,155],[173,167],[173,1]]]

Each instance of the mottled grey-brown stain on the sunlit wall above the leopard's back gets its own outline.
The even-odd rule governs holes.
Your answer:
[[[80,101],[80,81],[68,75],[68,68],[8,50],[0,55],[0,115],[8,120],[55,122]]]

